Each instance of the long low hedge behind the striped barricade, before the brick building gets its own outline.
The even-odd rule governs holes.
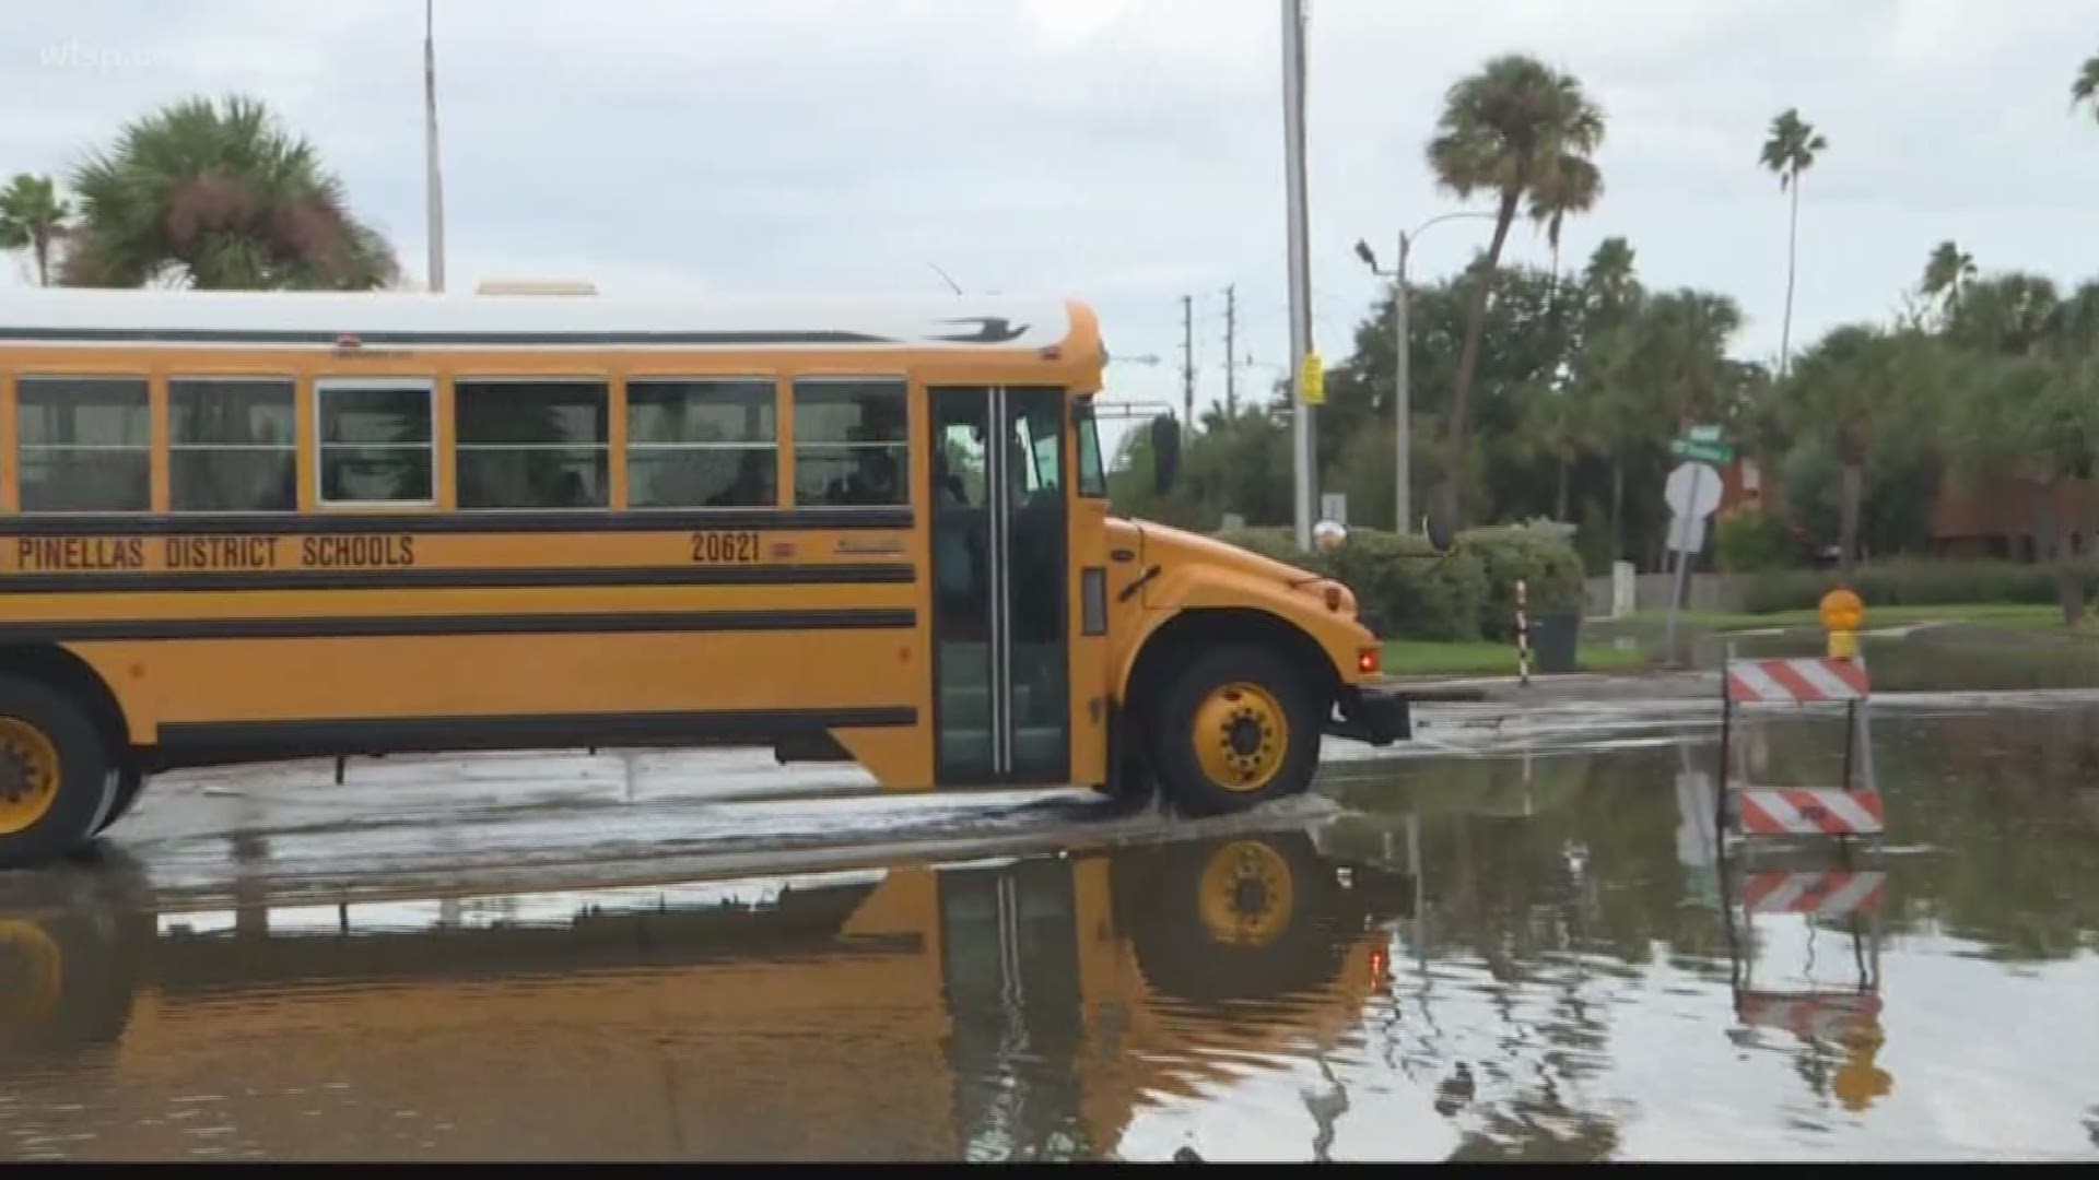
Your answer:
[[[2055,603],[2061,573],[2070,573],[2093,594],[2099,565],[2021,565],[2015,561],[1923,561],[1891,559],[1864,563],[1851,588],[1872,607],[1944,607],[1950,603]],[[1814,609],[1837,586],[1835,569],[1784,569],[1742,575],[1742,609],[1751,613]]]

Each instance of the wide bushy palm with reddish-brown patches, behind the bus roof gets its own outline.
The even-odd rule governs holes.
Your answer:
[[[256,99],[185,99],[128,124],[73,191],[71,286],[369,290],[399,275],[313,143]]]

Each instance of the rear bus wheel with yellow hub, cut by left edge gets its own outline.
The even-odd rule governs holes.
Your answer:
[[[0,869],[48,865],[86,844],[115,781],[86,710],[42,680],[0,676]]]

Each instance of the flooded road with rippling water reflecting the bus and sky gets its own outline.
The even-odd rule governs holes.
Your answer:
[[[0,880],[0,1159],[2099,1155],[2089,697],[1877,710],[1847,859],[1717,857],[1679,710],[1465,718],[1199,825],[586,760],[474,762],[523,785],[434,834],[407,766],[340,787],[384,823],[174,783]],[[1734,756],[1832,781],[1839,735]],[[787,838],[688,838],[737,823]]]

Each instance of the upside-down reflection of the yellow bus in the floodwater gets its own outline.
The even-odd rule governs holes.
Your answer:
[[[1259,834],[560,894],[0,899],[0,1075],[101,1111],[103,1157],[181,1151],[197,1094],[271,1157],[1108,1155],[1150,1100],[1345,1037],[1411,894]]]

